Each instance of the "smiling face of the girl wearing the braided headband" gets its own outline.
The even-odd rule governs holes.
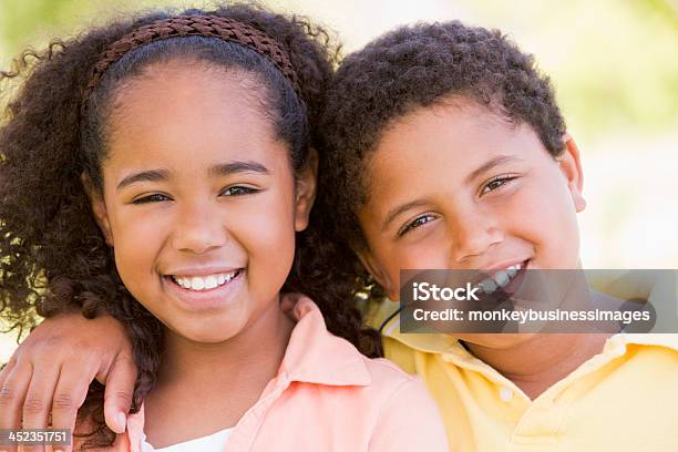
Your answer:
[[[114,99],[93,209],[130,292],[189,340],[277,310],[308,222],[315,174],[295,178],[260,95],[242,71],[177,60]]]

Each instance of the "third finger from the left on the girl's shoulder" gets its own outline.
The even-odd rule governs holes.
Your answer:
[[[55,430],[70,429],[71,435],[75,429],[78,409],[82,407],[88,397],[88,389],[96,366],[92,363],[64,366],[59,374],[59,383],[52,400],[52,428]],[[60,450],[71,451],[71,446],[60,446]]]

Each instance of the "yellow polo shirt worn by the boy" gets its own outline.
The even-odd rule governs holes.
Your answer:
[[[613,286],[607,292],[623,295],[624,284]],[[646,287],[651,300],[650,286],[629,287],[634,296]],[[382,304],[370,323],[397,308]],[[418,373],[438,402],[451,451],[678,451],[678,335],[615,335],[530,400],[452,336],[401,333],[398,317],[382,333],[386,357]]]

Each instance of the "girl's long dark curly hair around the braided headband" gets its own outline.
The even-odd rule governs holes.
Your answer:
[[[7,105],[0,127],[0,315],[19,329],[33,325],[34,312],[50,317],[81,311],[89,318],[110,314],[121,320],[134,345],[140,371],[134,411],[154,387],[163,328],[122,284],[81,182],[85,173],[101,188],[105,120],[116,90],[150,64],[175,58],[245,74],[261,88],[251,94],[253,102],[288,144],[291,167],[299,171],[307,164],[309,148],[318,145],[318,117],[339,59],[339,48],[330,35],[305,18],[251,4],[182,14],[230,18],[275,39],[291,62],[301,99],[289,80],[251,49],[216,38],[172,38],[132,50],[109,68],[86,100],[86,117],[81,117],[92,68],[102,53],[131,31],[171,17],[166,12],[54,41],[41,53],[25,51],[16,60],[13,71],[0,73],[3,85],[13,88],[10,82],[22,82]],[[297,234],[295,264],[282,291],[310,296],[331,332],[350,340],[366,355],[376,356],[380,351],[378,335],[363,330],[353,304],[339,298],[346,284],[335,284],[322,270],[325,266],[315,253],[328,246],[321,239],[312,226]],[[85,434],[88,445],[106,445],[114,440],[103,421],[102,401],[102,387],[94,383],[81,410],[93,425],[91,434]]]

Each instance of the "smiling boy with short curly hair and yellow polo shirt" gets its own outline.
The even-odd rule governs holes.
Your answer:
[[[501,33],[387,33],[343,61],[321,124],[316,225],[339,246],[318,253],[337,279],[360,261],[371,295],[397,300],[401,268],[579,266],[578,150],[548,80]],[[376,307],[386,356],[425,379],[451,450],[678,450],[675,336],[403,335],[396,306]]]

